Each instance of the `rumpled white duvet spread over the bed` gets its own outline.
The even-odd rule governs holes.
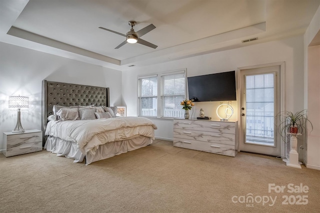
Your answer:
[[[156,126],[147,118],[115,117],[96,120],[50,121],[46,136],[76,143],[83,155],[94,154],[99,145],[145,136],[154,139]]]

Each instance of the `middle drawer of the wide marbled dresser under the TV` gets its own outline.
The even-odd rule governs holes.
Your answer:
[[[189,129],[173,129],[173,138],[189,139],[204,142],[213,142],[219,144],[233,145],[234,134],[220,133],[220,132],[204,132],[193,131]]]

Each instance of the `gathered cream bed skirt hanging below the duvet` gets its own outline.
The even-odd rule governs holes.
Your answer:
[[[85,165],[88,165],[95,161],[103,160],[115,155],[145,147],[151,143],[151,138],[139,136],[130,140],[109,142],[100,145],[94,155],[87,153],[86,156],[84,156],[78,150],[76,143],[48,136],[44,145],[44,149],[46,149],[48,152],[56,154],[56,156],[64,156],[66,158],[74,159],[73,163],[82,162],[85,157]]]

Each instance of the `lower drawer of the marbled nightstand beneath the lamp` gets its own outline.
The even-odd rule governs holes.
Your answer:
[[[22,143],[16,144],[14,146],[7,146],[5,157],[22,155],[31,152],[42,151],[42,141],[32,142],[32,143]]]

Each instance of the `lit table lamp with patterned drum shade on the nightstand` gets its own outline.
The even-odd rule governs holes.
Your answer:
[[[20,108],[29,107],[29,97],[26,96],[9,96],[9,108],[17,108],[17,119],[14,130],[12,132],[24,132],[20,119]]]

